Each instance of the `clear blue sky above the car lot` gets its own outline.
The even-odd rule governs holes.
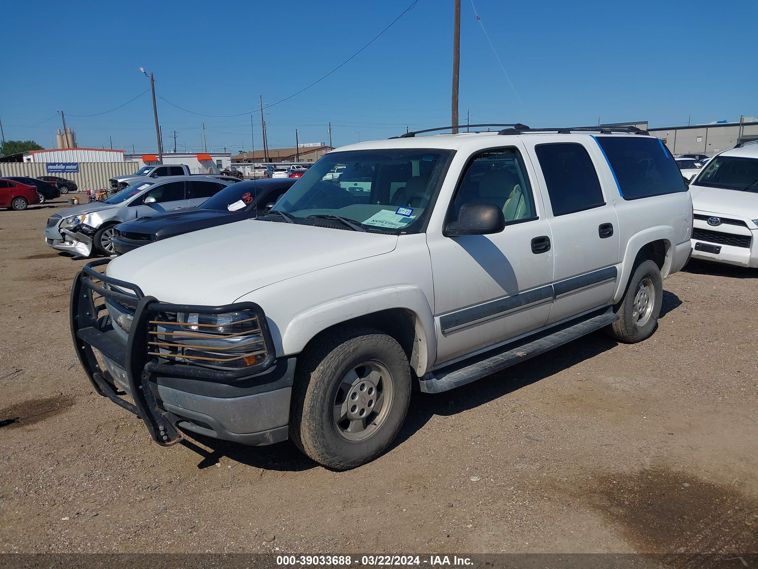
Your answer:
[[[3,10],[0,118],[6,139],[51,146],[66,113],[80,146],[155,151],[149,87],[207,115],[271,104],[360,49],[412,0],[327,2],[15,2]],[[471,123],[572,126],[648,120],[672,126],[758,115],[758,3],[462,0],[460,115]],[[418,0],[371,46],[268,109],[269,146],[335,146],[450,120],[452,0]],[[516,94],[517,93],[517,94]],[[158,99],[164,148],[249,149],[249,115],[208,118]],[[254,116],[260,148],[260,115]],[[41,123],[41,124],[39,124]],[[36,125],[36,126],[35,126]],[[360,135],[358,134],[360,133]]]

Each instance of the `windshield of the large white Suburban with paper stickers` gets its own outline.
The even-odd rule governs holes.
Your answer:
[[[364,230],[418,233],[453,153],[438,149],[330,152],[302,174],[273,210],[290,214],[296,222],[309,216],[338,215]],[[335,171],[341,172],[339,177]],[[344,228],[340,224],[337,220],[334,226]]]

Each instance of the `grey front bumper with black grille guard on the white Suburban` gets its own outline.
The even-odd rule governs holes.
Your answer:
[[[287,439],[295,358],[276,360],[269,348],[265,360],[254,366],[222,371],[167,361],[148,353],[150,322],[164,311],[252,311],[258,315],[262,335],[271,346],[261,308],[255,303],[225,307],[161,303],[144,296],[136,285],[96,271],[96,266],[109,260],[88,263],[74,278],[70,304],[77,356],[99,395],[140,417],[159,445],[178,442],[180,430],[247,445],[269,445]],[[119,290],[134,291],[134,295]],[[105,305],[96,306],[96,296],[133,308],[128,335],[107,314],[98,316]]]

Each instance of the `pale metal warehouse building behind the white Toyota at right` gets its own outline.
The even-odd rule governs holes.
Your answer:
[[[707,154],[714,156],[736,144],[758,139],[758,122],[695,124],[688,127],[649,128],[672,154]]]

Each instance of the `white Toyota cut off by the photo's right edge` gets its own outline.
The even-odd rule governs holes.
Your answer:
[[[758,268],[758,144],[714,156],[690,193],[693,258]]]

